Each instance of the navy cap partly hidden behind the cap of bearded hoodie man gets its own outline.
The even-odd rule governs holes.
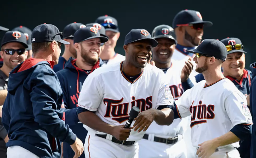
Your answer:
[[[71,24],[68,24],[63,29],[63,38],[73,38],[75,32],[80,28],[85,28],[86,26],[82,23],[76,23],[73,22]]]

